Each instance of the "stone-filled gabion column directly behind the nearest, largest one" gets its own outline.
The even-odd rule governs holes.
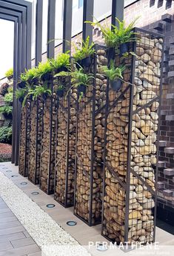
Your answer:
[[[99,48],[99,46],[98,46]],[[104,105],[107,80],[101,66],[107,65],[103,48],[93,58],[92,68],[96,80],[78,100],[76,130],[76,192],[74,214],[87,225],[101,222],[103,179]]]

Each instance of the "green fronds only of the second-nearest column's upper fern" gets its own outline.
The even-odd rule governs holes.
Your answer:
[[[94,45],[94,42],[90,44],[90,36],[87,36],[85,41],[82,40],[81,44],[78,44],[78,46],[74,45],[76,51],[75,54],[73,54],[74,60],[78,62],[78,60],[90,57],[90,55],[95,53]]]

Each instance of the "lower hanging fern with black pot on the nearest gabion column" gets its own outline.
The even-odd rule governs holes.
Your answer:
[[[115,67],[114,61],[110,61],[110,68],[107,66],[104,66],[103,71],[106,77],[110,80],[110,86],[113,89],[113,91],[118,91],[121,89],[122,80],[123,80],[123,72],[125,70],[125,66],[119,66]]]

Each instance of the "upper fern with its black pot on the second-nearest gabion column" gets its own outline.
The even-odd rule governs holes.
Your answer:
[[[91,65],[91,55],[95,53],[94,42],[90,44],[90,36],[87,36],[86,41],[82,40],[81,44],[78,46],[74,45],[75,54],[73,54],[73,58],[77,63],[76,68],[89,68]]]

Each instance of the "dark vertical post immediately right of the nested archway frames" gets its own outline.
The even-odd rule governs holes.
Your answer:
[[[35,45],[35,65],[41,62],[41,46],[42,46],[42,13],[43,0],[37,0],[36,3],[36,45]]]

